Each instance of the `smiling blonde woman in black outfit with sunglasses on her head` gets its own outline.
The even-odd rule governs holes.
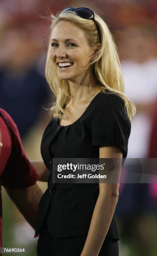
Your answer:
[[[118,256],[119,184],[82,184],[71,176],[55,183],[52,177],[53,158],[127,157],[136,110],[124,93],[115,43],[102,18],[73,7],[52,15],[45,71],[55,103],[41,143],[50,177],[38,210],[37,255]]]

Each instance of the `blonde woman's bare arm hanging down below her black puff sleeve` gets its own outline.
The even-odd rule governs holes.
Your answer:
[[[122,158],[115,147],[100,147],[100,158]],[[118,170],[120,173],[120,170]],[[118,183],[100,183],[100,193],[93,211],[87,239],[81,256],[98,256],[109,230],[118,201]]]

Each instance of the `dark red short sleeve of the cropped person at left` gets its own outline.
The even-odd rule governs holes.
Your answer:
[[[12,133],[12,151],[1,176],[2,185],[13,188],[30,187],[36,183],[39,175],[25,155],[14,121],[4,110],[0,111],[7,119]]]

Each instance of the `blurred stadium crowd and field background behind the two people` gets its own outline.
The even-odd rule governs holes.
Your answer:
[[[42,133],[53,95],[45,81],[50,13],[88,7],[109,25],[117,44],[125,92],[137,107],[128,158],[157,158],[157,1],[1,0],[0,108],[13,118],[30,160],[40,160]],[[132,167],[132,166],[131,166]],[[39,182],[45,191],[47,184]],[[2,191],[3,247],[26,247],[37,238]],[[157,255],[157,183],[121,184],[116,208],[120,256]]]

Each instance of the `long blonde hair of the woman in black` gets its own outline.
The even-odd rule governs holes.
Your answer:
[[[132,121],[136,114],[136,108],[133,102],[124,93],[124,80],[122,76],[120,60],[117,54],[115,42],[112,38],[107,24],[99,15],[95,14],[95,21],[100,29],[100,36],[97,26],[93,20],[80,18],[74,12],[68,11],[58,16],[51,15],[51,33],[53,28],[61,20],[68,21],[84,31],[85,38],[90,47],[101,43],[99,56],[92,62],[95,79],[97,84],[104,93],[105,89],[117,93],[125,101],[127,115]],[[50,34],[51,34],[50,33]],[[67,80],[62,80],[58,77],[54,64],[50,59],[51,45],[48,46],[47,61],[45,74],[48,84],[55,95],[55,102],[51,108],[51,113],[54,118],[61,119],[64,113],[63,105],[70,96],[70,87]]]

